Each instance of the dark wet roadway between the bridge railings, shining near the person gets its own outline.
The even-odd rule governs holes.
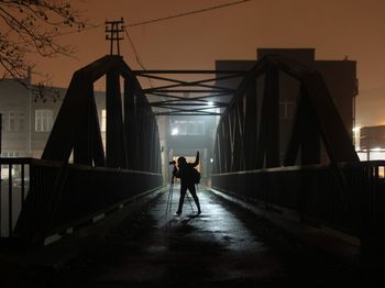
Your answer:
[[[166,190],[62,269],[34,272],[15,287],[372,287],[355,265],[207,190],[198,191],[199,217],[191,198],[195,211],[185,199],[174,215],[177,186],[173,196],[172,214]]]

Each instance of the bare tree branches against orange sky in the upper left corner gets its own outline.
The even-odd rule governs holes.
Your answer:
[[[0,68],[2,77],[24,78],[25,55],[70,56],[73,48],[55,41],[68,31],[80,31],[85,22],[69,0],[0,0]]]

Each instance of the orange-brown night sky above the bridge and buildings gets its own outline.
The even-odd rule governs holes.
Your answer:
[[[232,0],[72,2],[90,24],[122,16],[130,25]],[[385,124],[384,12],[383,0],[253,0],[129,32],[146,69],[212,69],[216,59],[255,59],[257,47],[315,47],[317,59],[348,56],[358,62],[358,124],[373,125]],[[59,87],[68,86],[76,69],[109,53],[105,25],[63,36],[61,42],[76,47],[76,58],[35,60],[36,69],[50,74]],[[128,40],[121,49],[125,62],[141,69]]]

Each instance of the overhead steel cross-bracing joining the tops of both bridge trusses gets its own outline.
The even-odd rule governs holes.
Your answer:
[[[143,89],[151,97],[157,97],[150,104],[155,115],[220,115],[234,96],[234,89],[222,87],[220,81],[241,78],[242,70],[135,70],[139,78],[163,81],[164,85]],[[175,76],[189,77],[216,75],[199,80],[180,80]],[[161,99],[161,100],[160,100]]]

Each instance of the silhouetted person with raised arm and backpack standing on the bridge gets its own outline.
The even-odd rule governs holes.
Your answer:
[[[185,196],[187,192],[187,189],[190,191],[194,201],[198,208],[198,215],[201,213],[200,212],[200,204],[199,204],[199,199],[197,196],[197,192],[195,190],[195,182],[194,182],[194,167],[196,167],[199,164],[199,151],[197,151],[197,156],[195,158],[195,163],[187,163],[185,157],[179,157],[178,158],[178,168],[174,166],[174,171],[173,175],[176,178],[180,178],[180,197],[179,197],[179,207],[178,210],[176,211],[177,215],[182,214],[182,207],[185,200]]]

